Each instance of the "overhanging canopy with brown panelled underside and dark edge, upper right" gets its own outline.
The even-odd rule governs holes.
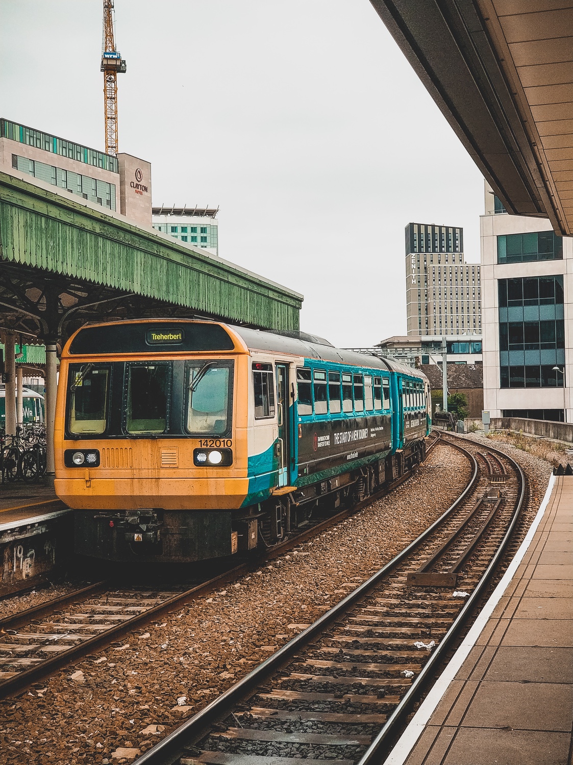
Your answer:
[[[370,0],[509,213],[573,235],[573,8]]]

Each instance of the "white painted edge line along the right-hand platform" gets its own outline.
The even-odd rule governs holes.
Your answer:
[[[424,702],[422,702],[422,705],[420,705],[420,708],[415,713],[412,720],[409,722],[408,728],[405,729],[396,746],[392,749],[389,756],[386,757],[384,765],[404,765],[405,761],[408,759],[410,752],[414,748],[418,738],[422,735],[426,724],[428,724],[431,715],[433,715],[435,711],[435,708],[438,706],[438,703],[441,701],[444,693],[448,690],[451,681],[454,679],[455,675],[457,675],[458,669],[461,668],[462,664],[467,659],[467,655],[474,647],[477,638],[480,636],[483,630],[483,627],[486,626],[487,620],[490,618],[491,614],[493,614],[493,609],[500,602],[500,598],[503,596],[507,586],[510,584],[510,581],[515,574],[517,567],[522,562],[523,556],[526,554],[527,549],[529,548],[529,545],[533,539],[533,535],[537,531],[537,527],[539,526],[543,514],[545,513],[545,508],[549,504],[549,498],[552,495],[554,483],[555,476],[552,475],[549,477],[547,491],[545,492],[545,496],[543,497],[542,503],[539,506],[537,515],[531,526],[529,526],[529,531],[527,532],[525,539],[523,539],[519,550],[516,552],[515,558],[513,558],[513,561],[510,563],[507,571],[503,575],[500,584],[497,585],[491,594],[490,600],[487,601],[487,604],[485,604],[483,609],[480,611],[479,616],[474,621],[473,626],[465,636],[463,643],[461,643],[461,646],[457,649],[456,653],[454,653],[451,661],[448,662],[448,666],[444,669],[444,672],[441,673],[437,682],[426,696]]]

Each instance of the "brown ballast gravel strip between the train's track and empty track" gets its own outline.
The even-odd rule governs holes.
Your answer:
[[[5,699],[2,765],[132,762],[404,549],[469,477],[463,455],[438,445],[356,516]]]

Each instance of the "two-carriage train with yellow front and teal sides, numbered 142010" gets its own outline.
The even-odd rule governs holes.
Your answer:
[[[90,324],[60,360],[57,496],[79,555],[192,563],[276,545],[425,458],[428,378],[303,332]]]

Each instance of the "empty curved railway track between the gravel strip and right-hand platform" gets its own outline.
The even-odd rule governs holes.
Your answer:
[[[136,765],[383,760],[467,626],[526,497],[526,478],[510,457],[442,438],[473,467],[448,511]]]

